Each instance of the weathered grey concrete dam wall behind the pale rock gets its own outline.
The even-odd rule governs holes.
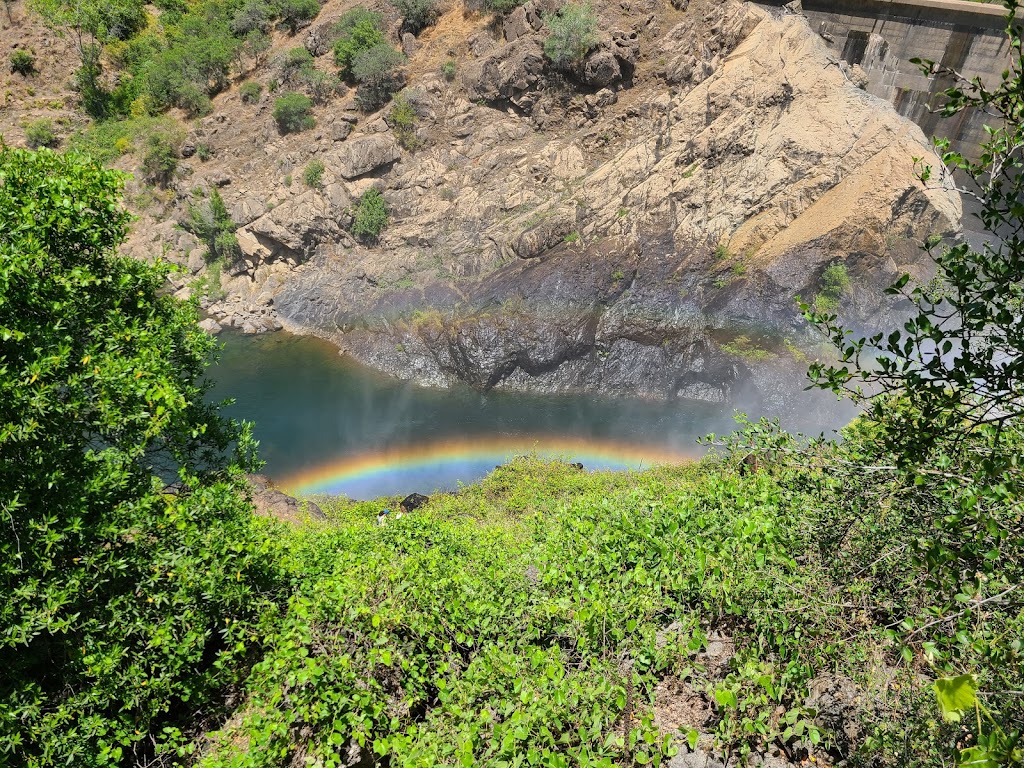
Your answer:
[[[1010,66],[1011,53],[1002,32],[1001,5],[959,0],[803,0],[803,9],[811,29],[837,57],[864,71],[869,93],[890,101],[927,135],[945,136],[953,148],[977,156],[985,138],[984,116],[962,113],[943,119],[933,114],[950,83],[922,75],[909,59],[932,59],[969,78],[997,83]]]

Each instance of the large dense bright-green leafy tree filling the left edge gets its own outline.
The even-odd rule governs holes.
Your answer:
[[[0,761],[139,765],[219,717],[272,615],[213,342],[118,255],[122,177],[0,151]],[[166,485],[176,478],[178,484]]]

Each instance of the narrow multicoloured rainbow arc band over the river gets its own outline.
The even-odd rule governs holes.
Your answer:
[[[332,494],[345,483],[388,473],[426,470],[459,464],[502,464],[513,456],[536,454],[543,458],[565,458],[602,469],[637,469],[659,464],[680,464],[694,456],[664,447],[612,440],[514,437],[451,439],[418,445],[390,447],[298,472],[282,478],[278,485],[296,494]],[[471,478],[467,478],[471,479]]]

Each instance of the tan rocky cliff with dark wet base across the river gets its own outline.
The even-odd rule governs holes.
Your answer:
[[[266,96],[218,97],[186,142],[213,157],[187,161],[172,203],[180,217],[216,185],[240,225],[245,259],[221,276],[215,315],[313,333],[426,384],[711,400],[774,391],[802,368],[795,297],[819,295],[829,266],[845,270],[830,297],[845,319],[898,316],[882,288],[927,275],[921,240],[954,236],[959,201],[916,180],[925,136],[802,16],[598,5],[601,42],[560,73],[543,55],[545,1],[501,24],[454,8],[404,36],[404,146],[387,109],[358,114],[350,96],[287,136]],[[300,33],[313,53],[342,10]],[[291,174],[313,159],[323,186],[305,188]],[[347,226],[372,186],[392,223],[367,245]],[[171,222],[132,247],[159,242],[203,268]]]

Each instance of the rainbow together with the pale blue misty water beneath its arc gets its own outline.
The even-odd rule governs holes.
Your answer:
[[[680,464],[695,454],[612,440],[546,436],[460,438],[347,456],[280,479],[298,495],[328,494],[369,499],[414,490],[453,488],[472,482],[513,456],[582,462],[587,469],[639,469]]]

